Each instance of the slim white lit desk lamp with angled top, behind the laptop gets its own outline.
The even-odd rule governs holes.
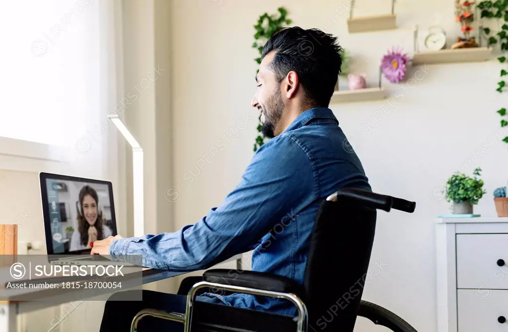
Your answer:
[[[118,115],[108,115],[118,131],[132,146],[132,175],[133,175],[133,203],[134,203],[134,236],[145,234],[144,202],[143,202],[143,148],[125,127]]]

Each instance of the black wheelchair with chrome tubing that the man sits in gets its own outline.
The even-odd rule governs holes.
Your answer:
[[[390,212],[392,208],[413,213],[416,203],[362,189],[340,189],[320,205],[310,238],[303,285],[257,271],[209,269],[203,277],[182,281],[178,293],[187,294],[185,313],[144,309],[134,317],[131,331],[137,331],[140,319],[153,316],[181,322],[185,332],[353,332],[360,316],[394,332],[416,332],[396,314],[361,299],[377,209]],[[354,285],[358,286],[355,292]],[[205,288],[286,299],[297,308],[298,316],[196,301],[200,290],[203,292]],[[346,300],[347,305],[339,306],[340,299]],[[322,324],[317,324],[318,321]]]

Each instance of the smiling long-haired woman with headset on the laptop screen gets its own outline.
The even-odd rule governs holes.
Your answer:
[[[111,229],[104,225],[102,211],[99,212],[99,196],[95,189],[90,186],[81,188],[79,202],[78,229],[72,234],[70,251],[90,249],[91,242],[112,235]]]

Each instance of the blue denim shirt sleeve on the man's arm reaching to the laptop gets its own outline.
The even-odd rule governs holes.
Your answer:
[[[249,251],[314,192],[311,162],[289,135],[263,144],[240,183],[194,225],[173,233],[115,240],[110,255],[143,255],[143,265],[190,271]],[[310,195],[311,196],[311,195]]]

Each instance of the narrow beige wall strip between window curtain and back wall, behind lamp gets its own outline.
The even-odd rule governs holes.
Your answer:
[[[171,204],[164,199],[171,174],[169,3],[162,0],[122,3],[123,89],[129,104],[122,112],[126,126],[144,153],[145,233],[172,231]],[[134,97],[136,96],[136,97]],[[132,206],[132,152],[126,152],[127,205]],[[129,209],[128,220],[132,220]],[[132,224],[132,223],[131,223]],[[133,236],[131,227],[123,236]],[[173,291],[173,279],[147,285]]]

